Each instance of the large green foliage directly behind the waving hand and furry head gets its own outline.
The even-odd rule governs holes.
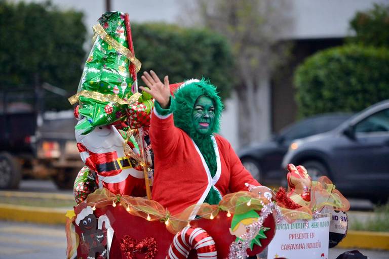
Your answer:
[[[171,83],[204,76],[218,88],[221,97],[229,95],[234,60],[223,36],[163,23],[131,27],[135,55],[142,62],[142,70],[169,75]]]

